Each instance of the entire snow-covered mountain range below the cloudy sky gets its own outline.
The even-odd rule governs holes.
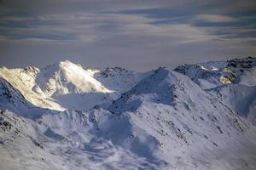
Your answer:
[[[1,169],[255,169],[256,59],[0,70]]]

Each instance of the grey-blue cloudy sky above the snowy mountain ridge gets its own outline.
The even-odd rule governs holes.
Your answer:
[[[148,71],[247,56],[255,1],[0,0],[0,66]]]

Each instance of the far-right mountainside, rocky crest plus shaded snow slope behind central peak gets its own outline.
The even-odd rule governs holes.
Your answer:
[[[174,71],[188,76],[202,89],[255,124],[256,58],[182,65]]]

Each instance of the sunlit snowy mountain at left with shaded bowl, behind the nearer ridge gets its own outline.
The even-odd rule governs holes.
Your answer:
[[[112,78],[108,78],[107,71],[112,73],[110,69],[84,70],[66,60],[42,69],[1,68],[0,77],[19,89],[33,105],[57,111],[88,110],[94,105],[112,102],[143,77],[143,74],[119,69]]]

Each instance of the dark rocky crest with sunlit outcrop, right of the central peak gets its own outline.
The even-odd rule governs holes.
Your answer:
[[[216,88],[222,84],[238,83],[247,86],[256,85],[256,59],[232,59],[202,63],[199,65],[181,65],[174,71],[188,76],[201,88]]]

